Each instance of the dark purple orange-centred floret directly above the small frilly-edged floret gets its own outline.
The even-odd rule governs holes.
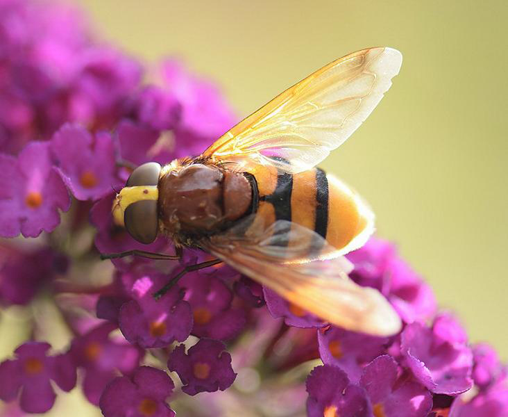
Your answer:
[[[232,307],[232,293],[214,275],[189,273],[180,281],[185,288],[184,300],[192,306],[192,334],[220,340],[239,334],[246,318],[242,309]]]

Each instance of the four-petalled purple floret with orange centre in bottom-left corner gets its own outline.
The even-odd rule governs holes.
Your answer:
[[[16,359],[0,363],[0,399],[12,401],[21,389],[19,404],[27,413],[44,413],[53,407],[55,391],[50,379],[63,391],[76,385],[76,366],[69,354],[47,356],[51,345],[27,342],[15,350]]]

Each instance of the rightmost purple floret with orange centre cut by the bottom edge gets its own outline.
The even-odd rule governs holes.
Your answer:
[[[369,394],[375,416],[426,417],[432,395],[417,382],[400,378],[397,362],[385,354],[366,366],[359,381]]]

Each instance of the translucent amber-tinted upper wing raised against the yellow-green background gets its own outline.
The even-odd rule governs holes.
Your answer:
[[[401,64],[402,55],[391,48],[339,58],[239,122],[203,156],[275,165],[292,174],[308,170],[371,114]]]

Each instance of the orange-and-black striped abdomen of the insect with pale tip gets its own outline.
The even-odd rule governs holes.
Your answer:
[[[287,174],[259,165],[251,174],[259,193],[256,217],[262,217],[264,224],[298,223],[316,231],[341,253],[361,246],[371,234],[373,213],[356,193],[323,170]]]

